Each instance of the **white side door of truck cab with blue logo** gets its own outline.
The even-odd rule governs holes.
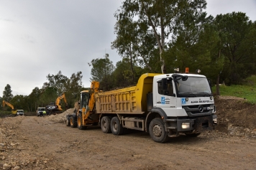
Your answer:
[[[157,94],[156,98],[156,107],[162,108],[166,115],[176,116],[176,98],[173,93],[173,79],[172,78],[163,78],[157,80],[157,89],[155,90]]]

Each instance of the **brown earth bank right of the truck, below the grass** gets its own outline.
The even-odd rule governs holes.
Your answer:
[[[256,136],[256,105],[233,96],[218,96],[214,100],[218,115],[216,130],[232,136]]]

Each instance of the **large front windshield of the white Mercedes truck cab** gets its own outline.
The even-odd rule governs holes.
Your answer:
[[[188,77],[175,81],[178,95],[182,97],[204,97],[211,96],[211,88],[206,77]]]

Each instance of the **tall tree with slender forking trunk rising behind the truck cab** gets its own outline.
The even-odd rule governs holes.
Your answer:
[[[206,1],[126,0],[115,16],[118,22],[123,18],[132,18],[141,30],[148,30],[154,34],[160,52],[161,71],[165,73],[165,60],[162,55],[166,42],[176,24],[180,22],[180,18],[186,15],[186,9],[191,11],[206,9]]]

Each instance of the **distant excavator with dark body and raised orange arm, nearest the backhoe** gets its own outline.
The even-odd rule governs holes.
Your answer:
[[[55,103],[50,103],[50,105],[47,105],[45,107],[47,115],[55,115],[57,113],[62,113],[62,108],[60,105],[60,100],[63,99],[66,105],[66,108],[68,108],[67,100],[65,99],[65,93],[62,93],[56,100]]]

